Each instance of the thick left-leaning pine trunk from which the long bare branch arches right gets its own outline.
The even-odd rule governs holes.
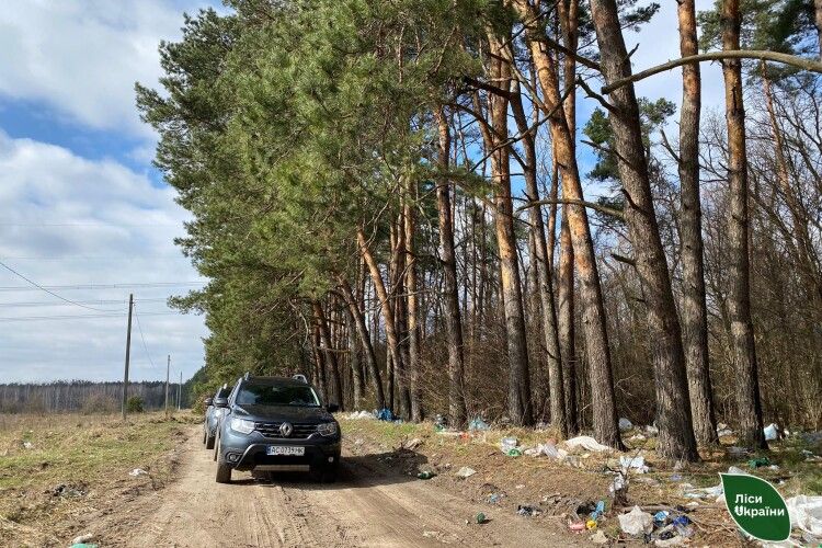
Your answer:
[[[625,47],[616,1],[591,0],[591,12],[606,82],[626,78],[630,75],[630,57]],[[633,85],[615,90],[610,99],[615,110],[609,116],[614,149],[618,155],[617,168],[627,198],[625,219],[648,309],[660,427],[657,450],[664,458],[696,461],[699,454],[688,400],[682,331],[653,209]]]

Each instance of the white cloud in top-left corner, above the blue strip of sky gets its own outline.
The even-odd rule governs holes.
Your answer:
[[[206,2],[193,3],[190,8]],[[96,129],[149,136],[134,83],[156,84],[157,47],[183,8],[161,0],[33,0],[0,10],[0,98],[42,102]]]

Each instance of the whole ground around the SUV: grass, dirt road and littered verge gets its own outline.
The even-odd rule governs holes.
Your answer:
[[[595,535],[615,546],[643,543],[620,532],[624,509],[613,507],[608,469],[619,467],[620,455],[513,457],[500,449],[502,437],[534,447],[550,432],[460,435],[432,423],[347,416],[340,413],[344,458],[336,483],[235,473],[228,486],[215,483],[212,452],[191,424],[199,419],[189,413],[169,422],[144,415],[128,426],[117,418],[0,418],[0,538],[4,546],[66,546],[87,533],[100,546],[592,546]],[[686,515],[690,546],[746,545],[723,502],[688,498],[684,483],[713,487],[717,472],[738,466],[786,496],[822,491],[822,465],[802,453],[819,455],[819,446],[775,443],[768,456],[778,469],[750,470],[753,456],[729,457],[726,438],[699,465],[674,470],[654,459],[653,437],[633,436],[626,434],[633,447],[621,456],[642,455],[650,469],[629,477],[626,509]],[[464,467],[473,473],[460,479]],[[149,473],[132,477],[134,468]],[[418,478],[424,471],[433,477]],[[598,501],[606,512],[596,529],[570,530]]]

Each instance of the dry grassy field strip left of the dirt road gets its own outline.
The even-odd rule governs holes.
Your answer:
[[[64,545],[117,496],[159,489],[192,415],[0,415],[0,536]],[[130,477],[135,468],[148,475]]]

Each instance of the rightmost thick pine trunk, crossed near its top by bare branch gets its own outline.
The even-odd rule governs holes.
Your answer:
[[[741,15],[739,0],[722,2],[722,48],[739,49]],[[747,207],[747,156],[745,151],[745,111],[742,99],[742,62],[722,61],[726,122],[728,125],[728,183],[730,216],[728,242],[730,272],[728,312],[731,320],[732,357],[737,378],[739,443],[767,448],[763,432],[756,345],[751,318],[751,265],[749,259],[750,220]]]

